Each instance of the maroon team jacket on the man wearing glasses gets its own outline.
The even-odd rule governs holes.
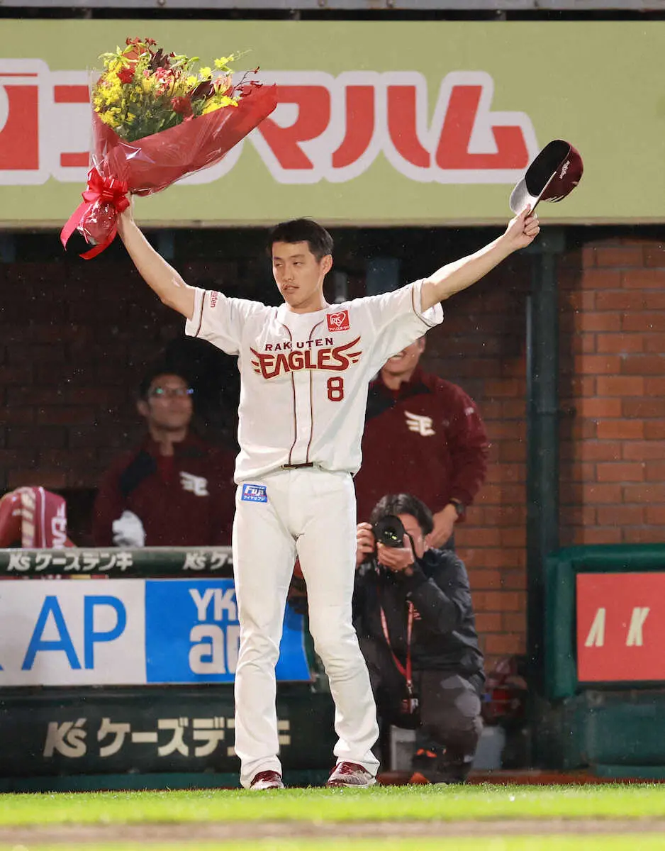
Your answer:
[[[96,546],[112,546],[111,524],[134,511],[146,546],[230,545],[235,511],[232,453],[188,436],[173,444],[173,458],[151,438],[105,473],[94,503]]]

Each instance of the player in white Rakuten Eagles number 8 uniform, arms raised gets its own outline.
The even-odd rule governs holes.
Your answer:
[[[236,753],[241,784],[283,786],[277,756],[275,665],[296,556],[308,588],[310,631],[336,706],[331,786],[370,786],[378,760],[376,707],[351,623],[355,494],[367,386],[396,351],[440,323],[440,301],[469,287],[539,231],[526,208],[475,254],[392,293],[328,305],[323,280],[333,240],[311,220],[270,235],[279,307],[188,286],[134,223],[118,232],[139,273],[186,318],[185,332],[238,358],[233,563],[240,651]]]

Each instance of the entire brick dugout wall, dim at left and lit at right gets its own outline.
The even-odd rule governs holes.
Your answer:
[[[665,251],[589,232],[573,234],[579,247],[560,264],[561,542],[665,541]],[[257,279],[242,259],[179,268],[250,297]],[[525,647],[529,283],[514,257],[455,296],[425,355],[475,398],[492,442],[457,534],[489,665]],[[111,458],[143,433],[137,380],[182,324],[121,259],[0,265],[0,293],[0,489],[38,482],[88,504]]]

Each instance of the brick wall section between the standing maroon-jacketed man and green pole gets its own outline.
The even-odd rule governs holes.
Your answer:
[[[463,386],[490,438],[484,487],[456,530],[469,571],[476,625],[492,665],[524,651],[526,632],[525,258],[514,257],[444,305],[426,367]]]

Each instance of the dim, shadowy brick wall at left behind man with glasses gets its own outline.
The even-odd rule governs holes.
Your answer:
[[[236,294],[237,266],[181,269]],[[126,260],[0,265],[0,288],[0,490],[95,488],[111,459],[144,434],[139,381],[182,336],[183,322]]]

